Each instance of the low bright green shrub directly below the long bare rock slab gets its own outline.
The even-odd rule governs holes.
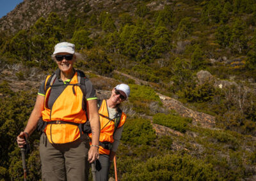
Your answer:
[[[192,122],[192,119],[180,117],[179,115],[165,115],[163,113],[157,113],[153,117],[153,122],[155,124],[161,124],[163,126],[170,127],[176,131],[185,133],[188,123]]]

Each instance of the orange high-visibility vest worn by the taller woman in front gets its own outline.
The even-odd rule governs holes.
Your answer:
[[[45,80],[46,82],[47,80]],[[47,107],[51,86],[45,92],[42,119],[48,123],[54,122],[47,124],[44,129],[50,143],[60,144],[77,140],[81,136],[81,130],[77,125],[83,124],[87,120],[86,111],[83,110],[84,95],[78,84],[77,72],[66,86],[51,109]]]

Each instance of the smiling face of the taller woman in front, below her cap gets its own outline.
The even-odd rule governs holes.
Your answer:
[[[70,55],[70,54],[63,52],[63,53],[58,53],[56,55]],[[73,59],[71,61],[68,61],[64,58],[63,58],[62,61],[57,61],[56,57],[54,59],[58,64],[58,68],[63,73],[70,73],[70,72],[72,72],[74,62],[76,61],[76,55],[74,54]]]

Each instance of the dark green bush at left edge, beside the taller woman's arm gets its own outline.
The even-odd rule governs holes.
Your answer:
[[[0,168],[6,168],[8,172],[1,169],[0,175],[6,177],[6,180],[22,180],[22,163],[20,158],[20,149],[17,147],[16,137],[20,131],[24,130],[29,115],[33,110],[35,104],[36,91],[31,89],[29,91],[12,92],[8,87],[8,83],[0,84],[0,89],[3,90],[4,96],[0,99],[0,136],[3,139],[0,144]],[[10,94],[8,93],[10,92]],[[38,139],[38,132],[33,133],[29,138],[31,143],[31,151],[35,150],[33,140]],[[29,154],[27,155],[29,159]],[[36,156],[38,158],[38,156]],[[40,170],[40,162],[37,170]],[[32,167],[28,166],[28,171]],[[40,175],[40,173],[37,173]],[[38,175],[33,178],[40,178]],[[37,179],[36,179],[37,180]]]

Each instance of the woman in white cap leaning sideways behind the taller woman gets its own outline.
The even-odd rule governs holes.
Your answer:
[[[116,154],[126,115],[120,109],[120,103],[127,100],[130,87],[124,83],[112,89],[109,99],[98,100],[100,115],[99,163],[96,163],[96,180],[108,180],[108,171]],[[91,137],[91,135],[89,134]],[[99,166],[100,165],[100,166]]]

